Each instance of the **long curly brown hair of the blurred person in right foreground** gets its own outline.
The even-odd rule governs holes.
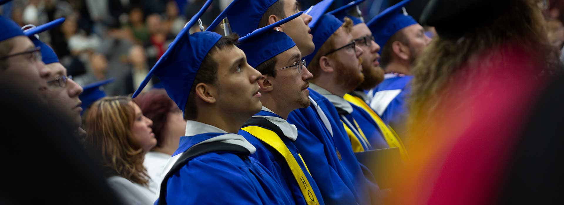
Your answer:
[[[460,39],[436,38],[415,62],[412,69],[409,99],[409,120],[426,119],[448,96],[442,93],[449,84],[455,83],[453,76],[465,73],[473,78],[480,67],[488,65],[488,59],[504,58],[504,53],[490,52],[490,56],[474,62],[470,58],[479,57],[507,44],[516,44],[527,51],[534,62],[539,62],[539,73],[557,67],[556,53],[550,48],[544,20],[535,0],[515,0],[514,6],[473,31],[466,32]],[[544,64],[543,64],[544,63]]]

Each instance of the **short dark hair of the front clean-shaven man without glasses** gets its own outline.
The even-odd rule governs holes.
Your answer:
[[[213,55],[217,53],[219,49],[223,49],[228,45],[237,45],[239,40],[239,35],[233,33],[227,37],[221,37],[217,43],[210,49],[204,60],[200,65],[200,69],[196,73],[194,82],[192,83],[192,88],[190,89],[190,94],[186,101],[186,107],[184,107],[184,120],[194,120],[198,117],[198,110],[196,107],[196,85],[200,83],[215,85],[217,80],[217,62],[213,60]]]

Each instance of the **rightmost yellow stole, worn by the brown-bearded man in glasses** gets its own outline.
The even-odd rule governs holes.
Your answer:
[[[354,104],[355,106],[363,108],[364,111],[368,112],[368,114],[372,117],[372,120],[374,120],[374,122],[376,122],[376,125],[378,125],[378,127],[382,131],[382,135],[384,136],[384,139],[386,140],[386,143],[388,144],[388,146],[389,147],[398,147],[399,152],[402,154],[403,160],[409,159],[406,147],[404,147],[403,142],[399,138],[398,134],[395,133],[394,129],[392,129],[390,126],[386,125],[384,123],[384,121],[380,118],[380,116],[378,116],[378,114],[376,114],[376,112],[374,112],[374,110],[372,110],[372,108],[370,108],[370,106],[368,106],[368,104],[366,104],[359,97],[355,97],[355,96],[352,96],[350,94],[345,94],[345,96],[343,98],[345,98],[346,101],[349,101],[350,103]]]

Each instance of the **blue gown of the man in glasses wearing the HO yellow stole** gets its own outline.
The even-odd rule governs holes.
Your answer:
[[[268,111],[261,111],[257,113],[255,116],[272,116],[272,117],[280,117],[275,113],[268,112]],[[268,128],[268,127],[265,127]],[[274,130],[273,130],[274,131]],[[282,157],[279,152],[277,152],[274,148],[270,145],[262,142],[260,139],[257,139],[252,134],[248,133],[245,130],[239,130],[239,134],[243,135],[245,139],[249,140],[251,144],[257,148],[257,151],[254,154],[250,154],[250,157],[255,158],[259,161],[262,165],[266,167],[266,169],[274,175],[275,179],[279,182],[281,186],[283,186],[284,190],[286,190],[289,198],[292,199],[292,204],[298,205],[305,205],[306,199],[303,198],[303,194],[301,189],[299,189],[299,185],[290,171],[290,167],[288,163]],[[298,137],[299,138],[299,137]],[[303,173],[307,177],[307,180],[310,183],[311,189],[314,191],[317,199],[319,201],[318,204],[325,204],[323,202],[323,198],[321,197],[321,193],[319,192],[318,185],[315,183],[315,180],[311,177],[309,172],[307,171],[306,166],[303,164],[302,159],[298,156],[299,152],[294,142],[287,138],[286,136],[280,136],[282,142],[288,147],[289,151],[292,153],[292,156],[296,159],[299,164],[299,167],[302,168]]]

